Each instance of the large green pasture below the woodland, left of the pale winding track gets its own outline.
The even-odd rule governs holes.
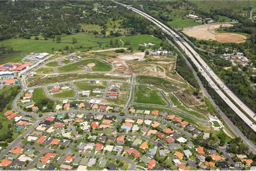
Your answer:
[[[72,38],[77,39],[77,44],[72,44]],[[89,33],[80,33],[75,35],[62,35],[61,42],[53,42],[52,39],[48,40],[35,40],[33,37],[31,39],[8,39],[0,41],[0,44],[8,45],[12,47],[15,51],[13,54],[4,54],[0,58],[0,63],[4,62],[21,62],[26,54],[32,52],[48,52],[52,53],[52,48],[55,51],[59,49],[64,49],[64,47],[69,46],[77,49],[77,51],[86,51],[89,48],[92,49],[102,49],[99,47],[97,42],[109,42],[111,38],[95,38],[94,35]],[[24,46],[25,45],[25,46]],[[82,48],[80,48],[82,46]],[[11,58],[10,58],[11,57]]]

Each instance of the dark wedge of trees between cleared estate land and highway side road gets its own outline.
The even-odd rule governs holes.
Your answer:
[[[194,77],[190,67],[188,67],[186,61],[178,54],[177,62],[176,62],[176,71],[182,76],[188,83],[191,84],[196,89],[199,89],[199,84]]]

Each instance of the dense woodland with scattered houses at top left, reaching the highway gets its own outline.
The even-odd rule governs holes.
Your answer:
[[[103,30],[95,34],[106,35],[107,24],[118,22],[118,28],[127,28],[126,34],[154,34],[161,37],[151,22],[113,2],[0,2],[0,40],[41,34],[55,39],[56,35],[85,32],[80,24],[96,24]],[[116,27],[114,25],[114,27]],[[117,28],[117,30],[118,30]],[[71,32],[70,32],[71,31]],[[26,34],[29,33],[29,34]],[[110,37],[122,34],[111,31]]]

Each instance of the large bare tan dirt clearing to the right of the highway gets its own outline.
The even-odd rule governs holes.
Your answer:
[[[199,40],[216,40],[219,42],[241,43],[246,40],[245,35],[235,33],[217,33],[215,30],[220,26],[230,27],[232,24],[205,24],[195,27],[184,28],[184,33]]]

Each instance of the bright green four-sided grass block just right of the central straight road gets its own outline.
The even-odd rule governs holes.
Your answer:
[[[145,86],[136,86],[133,102],[166,105],[157,90]]]

